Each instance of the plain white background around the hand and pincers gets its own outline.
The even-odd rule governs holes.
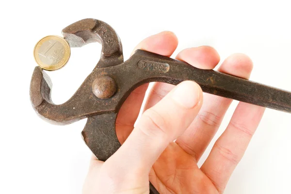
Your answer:
[[[30,104],[29,85],[36,65],[32,50],[40,38],[61,35],[67,25],[93,17],[116,30],[127,59],[142,39],[169,30],[179,39],[174,55],[201,45],[216,48],[222,60],[242,52],[254,62],[251,80],[291,91],[290,10],[288,0],[1,1],[0,193],[80,194],[87,172],[91,153],[81,139],[86,120],[50,125]],[[74,94],[97,64],[100,49],[97,43],[73,48],[69,63],[49,72],[55,103]],[[291,193],[290,128],[291,114],[266,111],[225,194]]]

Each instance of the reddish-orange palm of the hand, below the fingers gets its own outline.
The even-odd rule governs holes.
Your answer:
[[[218,193],[194,158],[174,142],[154,164],[150,181],[161,194]]]

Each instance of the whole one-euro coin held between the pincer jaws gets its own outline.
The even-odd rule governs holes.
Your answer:
[[[68,62],[71,49],[65,38],[49,35],[39,40],[33,56],[36,63],[45,70],[53,71],[62,68]]]

